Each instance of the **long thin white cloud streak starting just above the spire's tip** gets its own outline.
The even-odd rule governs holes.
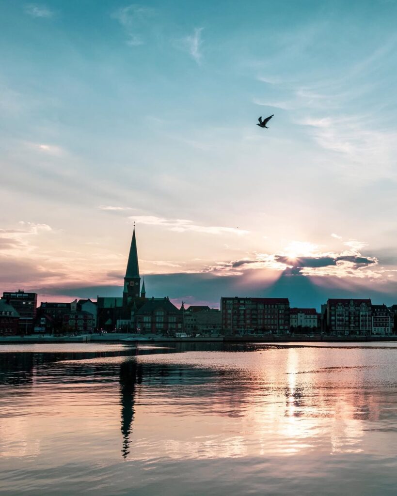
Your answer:
[[[166,219],[164,217],[156,217],[154,215],[135,215],[129,217],[129,219],[138,224],[161,226],[167,228],[169,231],[178,233],[193,231],[205,234],[236,234],[238,236],[242,236],[248,234],[249,232],[233,227],[199,226],[198,224],[194,224],[193,221],[187,219]]]

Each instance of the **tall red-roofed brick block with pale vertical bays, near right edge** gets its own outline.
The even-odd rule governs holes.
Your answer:
[[[372,303],[368,299],[330,298],[326,304],[325,330],[332,335],[370,335]]]

